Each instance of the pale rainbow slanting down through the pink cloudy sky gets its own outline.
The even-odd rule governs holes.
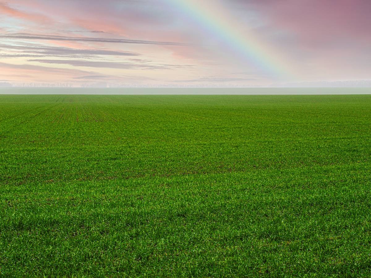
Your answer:
[[[256,67],[275,77],[294,75],[288,59],[284,59],[272,46],[263,42],[252,31],[241,28],[241,24],[218,0],[167,0],[182,12],[197,20],[210,32],[221,37],[233,49],[246,56]]]

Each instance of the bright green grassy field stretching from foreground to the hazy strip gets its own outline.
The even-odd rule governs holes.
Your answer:
[[[0,95],[0,276],[370,277],[371,95]]]

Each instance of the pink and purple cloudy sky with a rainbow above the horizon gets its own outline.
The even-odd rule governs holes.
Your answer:
[[[0,87],[371,84],[370,14],[370,0],[0,0]]]

